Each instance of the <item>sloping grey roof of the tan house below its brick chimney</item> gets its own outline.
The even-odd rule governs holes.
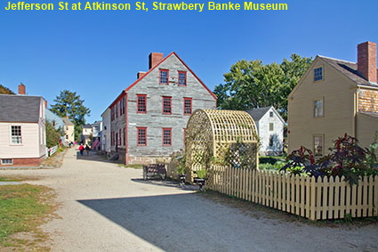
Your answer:
[[[378,87],[378,84],[371,83],[366,80],[366,78],[362,77],[362,75],[358,72],[358,65],[357,63],[350,62],[350,61],[342,61],[337,60],[325,56],[317,56],[318,58],[326,61],[329,65],[334,67],[334,69],[340,71],[344,76],[349,77],[353,82],[357,85],[367,85]],[[378,77],[378,69],[377,69],[377,77]]]

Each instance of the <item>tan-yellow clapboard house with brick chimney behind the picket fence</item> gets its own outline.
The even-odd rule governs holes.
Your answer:
[[[377,45],[358,45],[358,62],[317,56],[288,96],[289,153],[323,156],[343,134],[367,147],[378,131]]]

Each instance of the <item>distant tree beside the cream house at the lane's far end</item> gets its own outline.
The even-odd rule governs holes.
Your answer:
[[[84,106],[84,100],[80,99],[80,95],[68,90],[61,91],[54,102],[56,103],[52,105],[52,112],[62,118],[68,116],[70,120],[73,120],[75,139],[79,140],[85,125],[85,116],[89,116],[91,110]]]

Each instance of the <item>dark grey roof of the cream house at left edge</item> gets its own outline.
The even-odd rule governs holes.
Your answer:
[[[41,96],[0,94],[0,122],[39,122]]]

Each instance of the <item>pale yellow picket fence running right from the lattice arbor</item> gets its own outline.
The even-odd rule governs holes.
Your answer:
[[[358,185],[344,177],[288,175],[274,171],[212,167],[207,186],[213,191],[310,220],[376,216],[378,176],[362,177]]]

